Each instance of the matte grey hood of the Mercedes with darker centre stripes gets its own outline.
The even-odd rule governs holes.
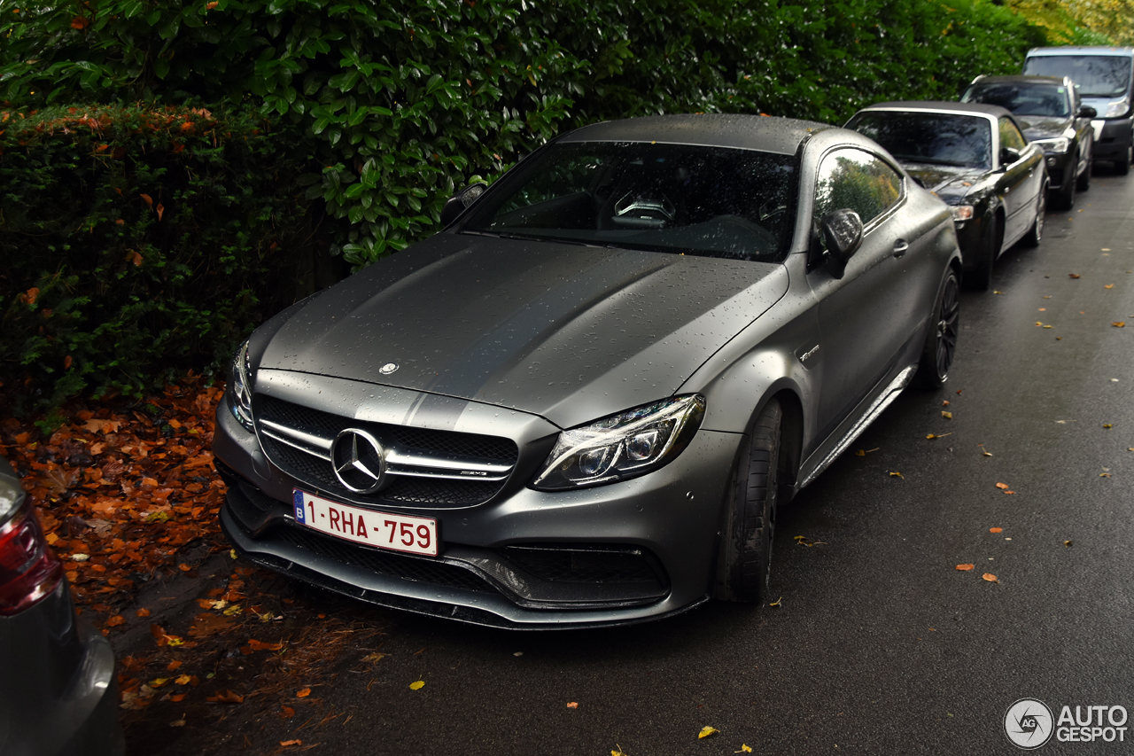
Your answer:
[[[572,427],[671,395],[787,286],[780,264],[439,234],[284,313],[253,366]]]

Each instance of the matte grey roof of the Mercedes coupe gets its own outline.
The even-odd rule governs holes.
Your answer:
[[[659,142],[795,154],[809,138],[830,128],[795,118],[736,114],[645,116],[577,128],[557,142]]]

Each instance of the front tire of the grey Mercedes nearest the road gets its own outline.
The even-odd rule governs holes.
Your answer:
[[[717,598],[763,603],[768,597],[782,417],[779,400],[769,400],[741,444],[717,557]]]

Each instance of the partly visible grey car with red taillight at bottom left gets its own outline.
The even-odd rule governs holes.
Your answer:
[[[115,653],[75,615],[19,478],[0,457],[0,754],[121,754]]]

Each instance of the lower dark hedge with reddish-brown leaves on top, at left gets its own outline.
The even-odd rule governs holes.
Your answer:
[[[293,149],[247,112],[0,111],[0,380],[16,409],[217,369],[313,288]]]

